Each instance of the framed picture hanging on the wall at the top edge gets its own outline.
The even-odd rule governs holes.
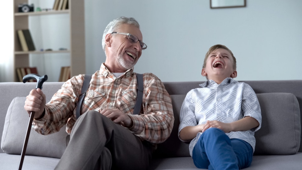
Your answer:
[[[210,8],[246,7],[246,0],[210,0]]]

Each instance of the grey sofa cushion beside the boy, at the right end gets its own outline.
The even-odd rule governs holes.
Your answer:
[[[292,93],[260,93],[262,127],[255,132],[255,155],[288,155],[300,147],[301,122],[297,98]]]

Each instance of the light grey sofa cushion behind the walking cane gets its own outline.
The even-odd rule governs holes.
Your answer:
[[[5,153],[21,154],[29,122],[29,116],[24,110],[25,100],[26,97],[15,97],[7,110],[1,141]],[[50,135],[40,135],[31,129],[26,155],[61,158],[68,135],[64,127]]]

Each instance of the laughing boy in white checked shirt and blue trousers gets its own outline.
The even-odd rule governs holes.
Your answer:
[[[190,141],[197,168],[242,169],[252,163],[261,110],[255,92],[239,83],[236,59],[224,45],[205,55],[201,75],[207,81],[187,93],[180,112],[178,137]]]

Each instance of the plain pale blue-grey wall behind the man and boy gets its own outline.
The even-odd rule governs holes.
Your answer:
[[[236,80],[301,79],[301,7],[301,0],[247,0],[247,7],[224,9],[210,9],[210,0],[86,0],[86,70],[105,61],[106,25],[126,16],[139,21],[148,45],[135,72],[203,81],[205,53],[223,44],[237,59]]]

